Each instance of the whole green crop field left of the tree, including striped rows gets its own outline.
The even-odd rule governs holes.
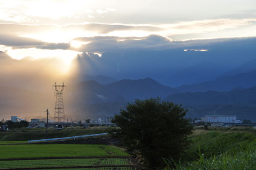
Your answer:
[[[121,148],[97,144],[0,145],[0,170],[136,170]],[[56,157],[56,158],[54,158]],[[98,157],[98,158],[97,158]]]

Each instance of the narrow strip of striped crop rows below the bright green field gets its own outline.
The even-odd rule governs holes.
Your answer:
[[[1,168],[18,167],[58,167],[58,166],[90,166],[90,165],[128,165],[128,158],[77,158],[77,159],[43,159],[0,161]]]

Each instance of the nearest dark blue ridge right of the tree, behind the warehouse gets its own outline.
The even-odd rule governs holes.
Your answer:
[[[256,121],[256,86],[229,92],[184,92],[165,100],[189,109],[188,117],[204,115],[238,115],[239,119]]]

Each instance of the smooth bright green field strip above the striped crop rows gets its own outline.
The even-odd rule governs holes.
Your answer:
[[[128,156],[118,147],[97,144],[0,145],[0,158]]]

